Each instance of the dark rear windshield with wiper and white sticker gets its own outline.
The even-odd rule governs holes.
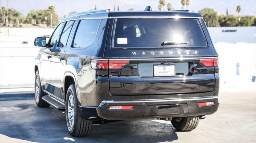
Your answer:
[[[206,47],[196,19],[117,19],[116,48]]]

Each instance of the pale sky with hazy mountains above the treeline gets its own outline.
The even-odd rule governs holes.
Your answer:
[[[180,0],[166,0],[166,4],[170,2],[174,10],[180,10],[182,5]],[[70,12],[83,12],[93,9],[96,5],[97,9],[113,10],[117,6],[120,10],[144,10],[146,6],[151,6],[152,10],[158,10],[159,0],[0,0],[0,6],[8,6],[21,12],[26,16],[30,10],[47,9],[48,6],[54,5],[56,13],[60,18],[67,16]],[[213,8],[218,14],[237,15],[236,6],[241,6],[239,15],[256,16],[256,0],[190,0],[188,10],[198,12],[203,8]],[[187,6],[184,6],[187,9]],[[164,10],[167,10],[164,6]]]

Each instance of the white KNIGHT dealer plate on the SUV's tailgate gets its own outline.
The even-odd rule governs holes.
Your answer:
[[[154,76],[175,76],[175,64],[153,65]]]

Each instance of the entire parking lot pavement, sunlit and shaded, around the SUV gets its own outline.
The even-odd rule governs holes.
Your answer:
[[[176,131],[170,121],[130,120],[93,125],[89,137],[72,137],[65,114],[38,108],[34,100],[0,101],[0,142],[256,142],[256,92],[220,92],[219,110],[193,131]]]

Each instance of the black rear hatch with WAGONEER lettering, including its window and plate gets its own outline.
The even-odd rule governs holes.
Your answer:
[[[111,19],[111,95],[210,92],[217,54],[198,19]],[[111,32],[110,32],[111,33]]]

